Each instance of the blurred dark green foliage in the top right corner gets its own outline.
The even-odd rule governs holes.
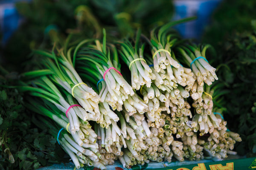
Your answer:
[[[212,15],[202,41],[212,44],[216,49],[227,37],[236,31],[252,31],[251,20],[256,19],[255,0],[222,0]]]

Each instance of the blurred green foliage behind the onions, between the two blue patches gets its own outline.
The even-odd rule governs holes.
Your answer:
[[[99,38],[106,28],[112,37],[128,37],[138,27],[148,33],[173,14],[167,0],[32,0],[16,7],[26,20],[3,48],[3,62],[18,72],[31,70],[32,49],[51,49],[55,42],[64,46],[67,34],[75,40]]]

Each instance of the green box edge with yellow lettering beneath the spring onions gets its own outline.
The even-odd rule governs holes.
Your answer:
[[[175,162],[150,162],[144,166],[134,166],[130,169],[122,168],[119,161],[114,165],[106,166],[108,170],[256,170],[256,157],[229,159],[224,161],[175,161]],[[37,170],[74,170],[74,164],[54,164],[49,167],[41,167]],[[79,170],[99,170],[94,167],[82,167]]]

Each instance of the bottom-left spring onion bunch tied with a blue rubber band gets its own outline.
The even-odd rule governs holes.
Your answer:
[[[31,94],[31,92],[29,93]],[[70,133],[71,124],[68,123],[69,119],[61,113],[61,110],[49,102],[49,100],[27,97],[26,101],[26,106],[29,109],[52,119],[50,121],[40,116],[34,118],[33,122],[41,128],[49,128],[49,132],[70,156],[77,169],[83,167],[84,164],[106,169],[104,164],[99,161],[102,156],[98,150],[98,143],[96,143],[97,135],[91,129],[88,121],[82,122],[80,119],[79,130],[72,134]]]

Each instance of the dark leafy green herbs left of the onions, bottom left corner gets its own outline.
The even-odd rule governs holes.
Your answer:
[[[0,170],[33,170],[50,162],[61,162],[65,153],[56,139],[47,130],[38,130],[31,121],[31,113],[23,106],[22,95],[15,88],[8,88],[13,81],[1,78]]]

